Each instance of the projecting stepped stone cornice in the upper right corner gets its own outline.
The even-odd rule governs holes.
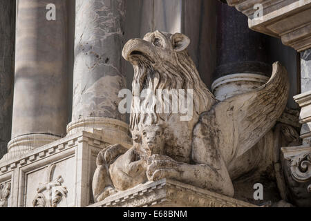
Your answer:
[[[283,44],[303,51],[311,47],[311,0],[227,0],[229,6],[248,17],[249,28],[273,37]],[[263,6],[263,17],[254,18]]]

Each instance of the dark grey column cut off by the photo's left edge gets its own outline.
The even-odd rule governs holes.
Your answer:
[[[11,137],[15,52],[15,1],[0,1],[0,159]]]

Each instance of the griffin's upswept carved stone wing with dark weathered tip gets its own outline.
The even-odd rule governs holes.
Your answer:
[[[266,84],[230,97],[209,111],[205,120],[211,122],[207,125],[217,136],[213,144],[225,148],[225,160],[245,153],[274,126],[287,103],[289,87],[287,71],[276,62]]]

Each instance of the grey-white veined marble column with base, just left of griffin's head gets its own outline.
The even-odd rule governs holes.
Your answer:
[[[127,137],[125,115],[118,111],[126,88],[125,0],[77,0],[72,122],[68,134],[103,130],[106,135]],[[122,137],[122,138],[121,138]]]

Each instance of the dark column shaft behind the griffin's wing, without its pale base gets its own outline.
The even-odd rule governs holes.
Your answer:
[[[218,2],[217,68],[215,78],[232,73],[271,75],[265,35],[250,30],[247,17]]]

